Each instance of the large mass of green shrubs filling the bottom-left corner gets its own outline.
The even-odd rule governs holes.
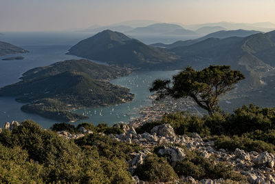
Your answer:
[[[3,130],[0,183],[132,183],[125,159],[139,147],[93,137],[91,145],[76,145],[32,121]]]

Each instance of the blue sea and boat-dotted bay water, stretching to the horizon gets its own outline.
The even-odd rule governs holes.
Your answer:
[[[20,81],[22,74],[32,68],[41,67],[65,61],[68,59],[81,59],[68,55],[67,50],[78,41],[89,37],[87,33],[61,33],[61,32],[4,32],[0,36],[0,41],[6,41],[14,45],[18,45],[28,53],[10,54],[0,57],[0,88]],[[23,60],[3,61],[6,57],[24,57]],[[99,61],[94,61],[101,63]],[[106,63],[101,63],[106,64]],[[76,113],[89,116],[85,121],[77,121],[78,123],[89,122],[97,125],[98,123],[114,123],[128,122],[139,116],[140,108],[150,106],[151,100],[148,98],[151,93],[149,87],[155,79],[167,79],[176,74],[178,71],[137,71],[129,76],[111,80],[111,83],[124,86],[135,94],[135,98],[130,103],[122,103],[119,105],[110,105],[100,108],[85,108],[76,110]],[[45,119],[37,114],[28,114],[21,111],[24,103],[15,101],[16,97],[0,97],[0,127],[5,122],[24,121],[31,119],[39,123],[43,128],[49,128],[54,123],[61,123],[51,119]]]

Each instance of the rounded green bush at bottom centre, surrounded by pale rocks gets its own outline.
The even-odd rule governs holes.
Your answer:
[[[134,174],[142,181],[154,183],[174,181],[177,178],[177,174],[167,160],[155,154],[146,156],[144,163],[137,165]]]

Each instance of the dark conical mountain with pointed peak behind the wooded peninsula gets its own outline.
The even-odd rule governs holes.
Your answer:
[[[104,30],[80,41],[68,54],[131,68],[163,68],[178,59],[175,54],[126,37],[120,32]]]

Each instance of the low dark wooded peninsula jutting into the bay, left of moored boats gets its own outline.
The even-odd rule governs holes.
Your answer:
[[[28,103],[23,112],[56,121],[78,121],[89,117],[72,110],[126,103],[134,94],[110,79],[126,76],[128,68],[99,65],[89,60],[67,60],[25,72],[22,81],[0,88],[0,96],[18,96]]]

